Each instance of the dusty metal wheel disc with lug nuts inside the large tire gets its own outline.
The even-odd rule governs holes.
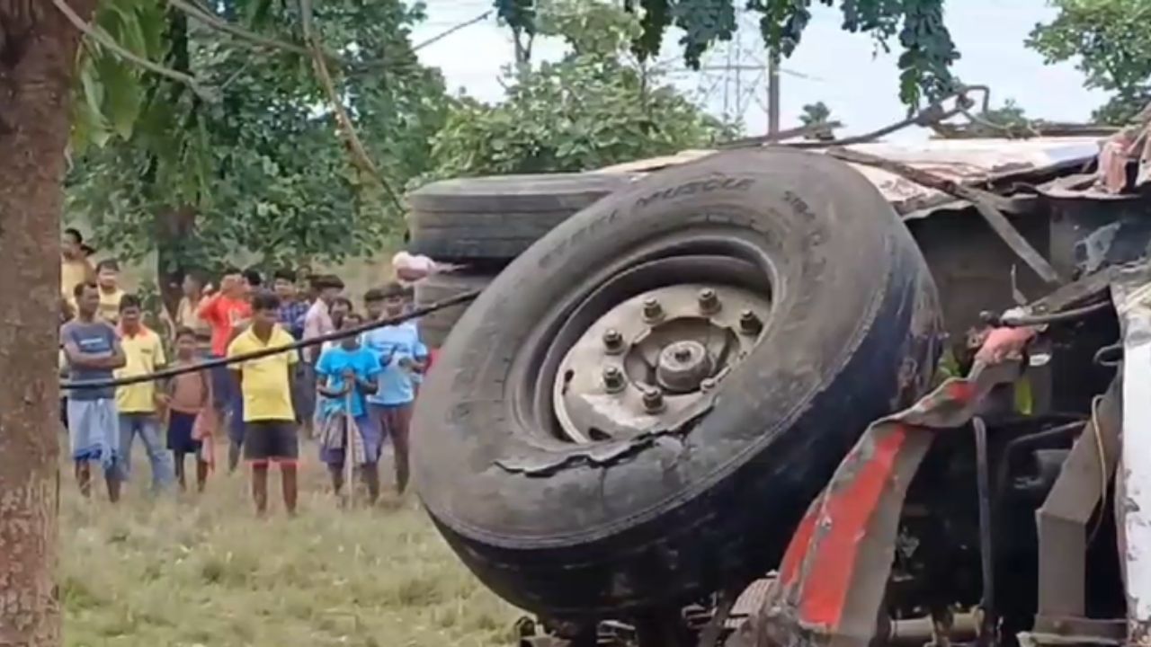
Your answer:
[[[609,309],[567,351],[552,402],[573,442],[620,440],[693,414],[759,343],[770,299],[685,283]]]

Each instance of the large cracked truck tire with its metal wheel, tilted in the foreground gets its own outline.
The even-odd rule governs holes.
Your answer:
[[[668,169],[559,224],[464,313],[417,402],[417,492],[518,607],[694,601],[777,565],[868,424],[929,388],[940,330],[915,242],[851,167],[764,149]],[[707,373],[685,370],[692,343]],[[657,393],[663,411],[635,412]]]

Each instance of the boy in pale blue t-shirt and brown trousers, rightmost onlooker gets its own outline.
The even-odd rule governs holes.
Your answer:
[[[404,311],[404,288],[388,283],[383,298],[383,317],[398,317]],[[403,494],[407,487],[407,433],[416,401],[416,380],[427,366],[428,351],[420,342],[417,327],[410,322],[384,326],[365,334],[365,345],[375,352],[383,372],[380,388],[368,396],[368,414],[391,437],[395,450],[396,489]]]

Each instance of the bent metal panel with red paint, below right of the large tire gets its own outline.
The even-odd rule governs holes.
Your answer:
[[[735,634],[747,647],[867,645],[877,631],[900,510],[936,429],[966,425],[1015,363],[977,365],[915,406],[874,423],[800,522],[778,585]]]

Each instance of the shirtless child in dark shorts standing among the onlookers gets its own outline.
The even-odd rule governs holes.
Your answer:
[[[182,327],[176,330],[176,367],[185,368],[198,361],[196,330]],[[207,371],[181,373],[168,385],[168,449],[176,463],[180,489],[188,488],[184,458],[196,458],[196,490],[204,492],[212,456],[211,424],[212,380]],[[203,418],[203,419],[200,419]]]

